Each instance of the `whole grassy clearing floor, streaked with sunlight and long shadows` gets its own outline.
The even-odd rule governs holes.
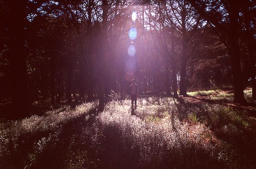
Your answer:
[[[189,94],[221,104],[148,97],[134,111],[92,102],[3,121],[0,168],[256,168],[256,109],[219,93]]]

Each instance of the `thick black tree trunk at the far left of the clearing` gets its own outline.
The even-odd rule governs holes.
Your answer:
[[[14,115],[29,115],[27,63],[25,57],[25,17],[27,1],[9,0],[7,18],[7,47],[10,51],[11,101]]]

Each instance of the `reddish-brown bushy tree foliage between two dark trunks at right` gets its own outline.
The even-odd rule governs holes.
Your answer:
[[[225,45],[219,40],[211,25],[197,31],[198,45],[189,67],[190,90],[201,90],[231,86],[230,58]]]

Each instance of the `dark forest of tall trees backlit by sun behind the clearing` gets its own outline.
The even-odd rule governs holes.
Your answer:
[[[186,96],[255,82],[255,1],[0,1],[0,102],[18,116],[32,103]],[[133,18],[132,18],[133,13]],[[134,14],[136,16],[134,20]],[[24,111],[20,111],[24,110]]]

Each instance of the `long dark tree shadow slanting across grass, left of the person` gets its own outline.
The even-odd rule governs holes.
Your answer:
[[[78,158],[82,159],[89,158],[86,156],[92,151],[90,147],[91,136],[88,135],[85,130],[90,128],[95,121],[95,114],[96,108],[90,110],[87,114],[83,114],[82,116],[65,123],[58,136],[59,141],[55,146],[45,149],[44,153],[41,154],[41,160],[35,165],[35,168],[63,168],[69,163],[69,160],[78,160],[75,159],[76,157],[71,157],[69,159],[69,156],[72,156],[72,154],[77,154],[81,156]],[[81,138],[81,136],[83,138]],[[85,168],[89,162],[90,161],[80,163],[80,165]]]

